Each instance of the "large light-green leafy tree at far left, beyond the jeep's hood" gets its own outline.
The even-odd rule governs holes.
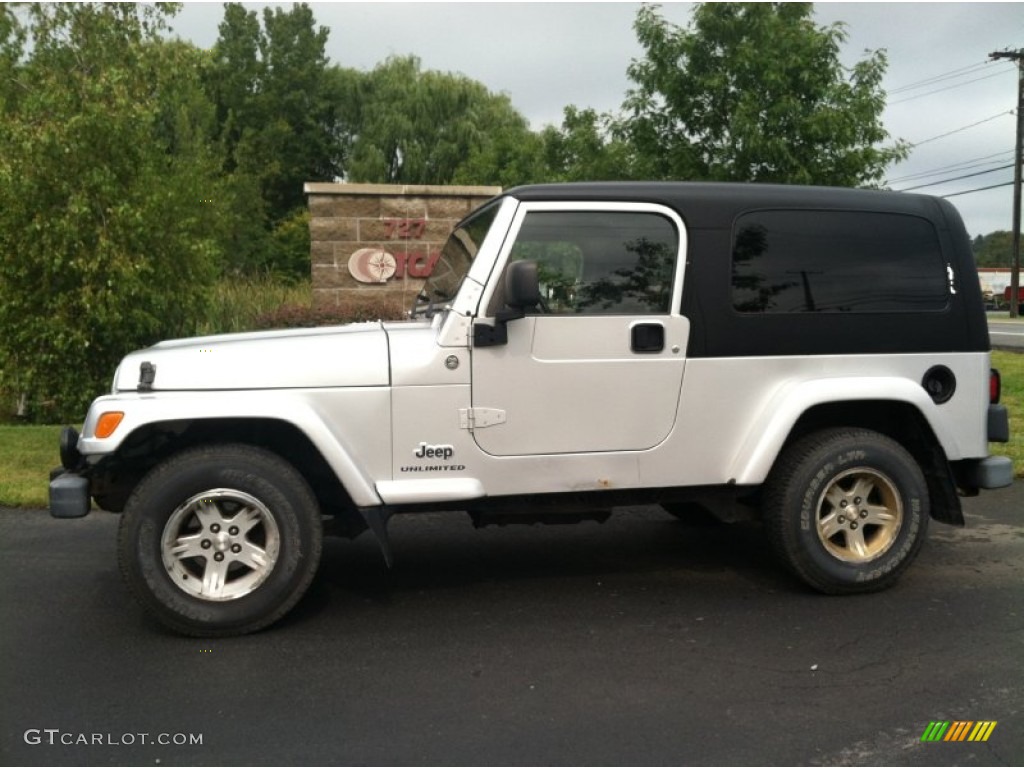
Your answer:
[[[173,8],[0,12],[0,390],[80,418],[203,306],[221,239],[203,54],[161,37]]]

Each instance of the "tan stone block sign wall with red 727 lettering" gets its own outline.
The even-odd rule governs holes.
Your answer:
[[[455,224],[499,186],[309,182],[313,306],[412,306]]]

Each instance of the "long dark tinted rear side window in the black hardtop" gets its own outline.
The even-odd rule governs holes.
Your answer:
[[[949,280],[931,222],[859,211],[755,211],[733,230],[740,312],[937,311]]]

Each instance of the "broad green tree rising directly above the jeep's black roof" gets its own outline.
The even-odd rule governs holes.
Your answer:
[[[884,145],[886,69],[876,51],[847,69],[842,24],[810,3],[702,3],[689,28],[637,13],[644,56],[620,130],[650,178],[869,185],[907,147]]]

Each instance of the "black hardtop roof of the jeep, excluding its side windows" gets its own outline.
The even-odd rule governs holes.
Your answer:
[[[927,195],[783,184],[607,181],[517,186],[523,202],[654,203],[688,230],[681,311],[691,319],[691,357],[987,351],[981,288],[956,209]],[[730,295],[732,227],[754,210],[870,211],[932,222],[959,289],[945,311],[744,314]]]

